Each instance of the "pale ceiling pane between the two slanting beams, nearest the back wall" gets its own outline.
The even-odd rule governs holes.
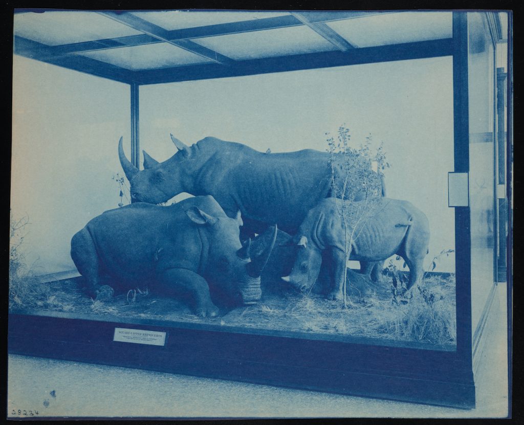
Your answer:
[[[333,44],[305,26],[206,37],[194,41],[236,60],[336,50]]]

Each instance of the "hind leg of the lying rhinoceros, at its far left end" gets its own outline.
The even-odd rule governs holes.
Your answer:
[[[99,256],[91,234],[86,229],[82,229],[71,239],[71,258],[84,277],[91,296],[96,299],[108,299],[113,296],[113,288],[103,283]]]

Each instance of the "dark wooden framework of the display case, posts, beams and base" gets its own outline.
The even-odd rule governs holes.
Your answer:
[[[311,23],[322,23],[322,13]],[[256,30],[246,23],[215,25],[160,34],[187,40],[217,33]],[[259,29],[303,25],[295,16],[260,19]],[[257,27],[257,28],[258,28]],[[154,28],[153,28],[154,30]],[[200,32],[199,32],[200,31]],[[228,32],[230,31],[230,32]],[[138,166],[138,88],[187,80],[262,74],[328,66],[376,63],[451,55],[454,91],[454,172],[469,171],[467,15],[453,12],[453,37],[345,51],[311,53],[239,63],[205,64],[181,69],[130,72],[87,58],[68,57],[72,51],[97,46],[158,42],[155,37],[98,40],[48,48],[15,37],[15,52],[65,68],[127,82],[131,87],[132,159]],[[331,35],[332,36],[332,35]],[[334,36],[336,39],[336,36]],[[130,44],[126,44],[130,43]],[[135,44],[133,44],[135,43]],[[342,46],[343,47],[343,46]],[[346,46],[347,47],[347,46]],[[77,49],[77,50],[75,50]],[[138,367],[235,381],[280,385],[326,392],[390,398],[435,405],[472,408],[475,385],[472,372],[471,241],[469,207],[455,208],[456,235],[456,351],[392,346],[372,340],[345,341],[314,334],[249,331],[188,323],[79,317],[71,314],[10,314],[8,351],[89,363]],[[510,292],[510,291],[508,291]],[[165,346],[114,342],[115,327],[167,333]]]

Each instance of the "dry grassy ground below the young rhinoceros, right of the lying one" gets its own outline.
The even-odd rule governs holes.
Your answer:
[[[266,296],[262,303],[232,310],[223,325],[352,335],[439,345],[456,341],[454,276],[431,276],[412,297],[385,291],[348,297],[348,307],[319,294]],[[222,323],[221,322],[221,323]]]

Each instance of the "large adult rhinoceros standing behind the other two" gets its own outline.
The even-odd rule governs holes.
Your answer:
[[[327,152],[263,153],[214,137],[189,147],[171,139],[178,153],[158,162],[144,152],[142,171],[126,158],[120,139],[118,153],[132,202],[159,204],[182,192],[212,195],[229,217],[242,212],[244,234],[262,233],[275,223],[295,234],[307,212],[331,196],[333,176]],[[338,172],[341,167],[333,169]],[[377,173],[373,176],[384,194],[383,181]]]

